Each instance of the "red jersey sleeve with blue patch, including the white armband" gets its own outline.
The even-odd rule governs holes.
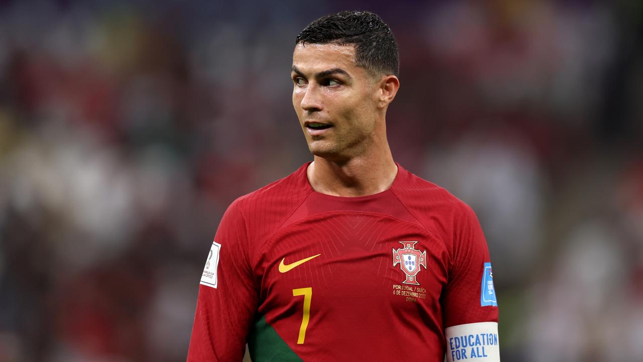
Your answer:
[[[451,270],[442,299],[446,360],[500,361],[489,249],[471,207],[460,205],[454,229]]]

